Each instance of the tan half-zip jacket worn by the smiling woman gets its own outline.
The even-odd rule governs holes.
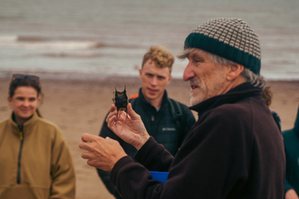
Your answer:
[[[0,122],[0,198],[74,198],[72,156],[59,128],[34,113]]]

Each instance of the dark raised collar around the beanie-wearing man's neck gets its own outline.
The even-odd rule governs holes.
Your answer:
[[[217,95],[210,99],[204,100],[189,109],[195,110],[200,114],[209,109],[214,109],[218,106],[227,103],[235,103],[236,101],[246,99],[248,97],[262,97],[262,90],[254,87],[250,83],[242,83],[235,88],[228,90],[223,95]]]

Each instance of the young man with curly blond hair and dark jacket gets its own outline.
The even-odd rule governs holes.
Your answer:
[[[175,156],[183,138],[195,123],[195,118],[186,105],[168,98],[166,86],[171,81],[173,55],[162,46],[151,46],[143,56],[140,69],[141,88],[137,98],[131,99],[132,109],[141,117],[149,135]],[[131,157],[137,150],[117,137],[104,121],[100,137],[111,137]],[[111,185],[110,173],[97,169],[102,182],[116,198],[121,198],[116,187]]]

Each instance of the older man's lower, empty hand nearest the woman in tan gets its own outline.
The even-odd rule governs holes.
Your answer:
[[[87,159],[89,166],[104,171],[111,171],[121,157],[127,156],[120,143],[110,137],[103,138],[84,133],[79,147],[87,151],[83,152],[81,156],[83,159]]]

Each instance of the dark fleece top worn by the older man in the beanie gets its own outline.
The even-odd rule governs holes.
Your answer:
[[[178,154],[152,137],[135,156],[122,157],[111,183],[123,198],[282,199],[285,152],[282,136],[261,90],[248,83],[191,107],[198,121]],[[149,170],[169,171],[165,184]]]

